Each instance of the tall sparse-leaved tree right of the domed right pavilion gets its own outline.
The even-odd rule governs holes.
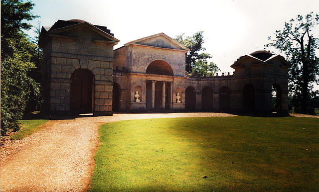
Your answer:
[[[272,42],[266,45],[284,52],[292,64],[289,91],[295,110],[301,113],[314,113],[316,93],[312,83],[319,83],[319,58],[315,53],[319,49],[319,39],[312,34],[312,29],[318,24],[318,14],[298,15],[296,19],[285,22],[283,30],[276,30],[275,39],[268,37]]]

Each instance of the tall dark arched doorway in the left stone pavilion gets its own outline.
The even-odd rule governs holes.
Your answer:
[[[71,75],[70,110],[73,113],[93,112],[94,75],[87,69],[77,69]]]

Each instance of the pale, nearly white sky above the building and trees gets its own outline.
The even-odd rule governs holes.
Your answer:
[[[40,21],[51,26],[58,19],[82,19],[107,26],[120,40],[115,48],[160,32],[175,38],[177,34],[191,36],[204,31],[203,46],[213,56],[210,61],[231,74],[230,65],[240,56],[263,50],[268,36],[283,29],[285,21],[312,11],[319,14],[319,0],[31,1],[35,3],[33,14],[40,16],[31,24]],[[319,26],[313,34],[319,38]]]

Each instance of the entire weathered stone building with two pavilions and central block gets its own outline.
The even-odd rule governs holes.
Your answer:
[[[219,76],[185,76],[188,49],[164,33],[124,44],[81,20],[42,28],[46,112],[248,111],[288,113],[289,63],[256,51]]]

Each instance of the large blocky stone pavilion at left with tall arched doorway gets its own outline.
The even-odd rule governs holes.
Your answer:
[[[113,46],[106,27],[58,20],[42,27],[42,111],[112,115]]]

